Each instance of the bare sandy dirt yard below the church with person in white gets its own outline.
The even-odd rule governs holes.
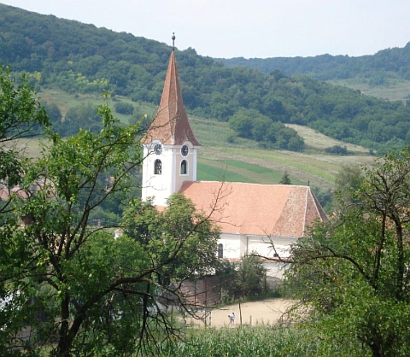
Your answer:
[[[286,308],[292,305],[291,300],[285,299],[270,299],[257,302],[249,302],[241,304],[242,311],[242,324],[243,325],[257,325],[257,324],[274,324],[286,311]],[[230,325],[228,314],[235,312],[235,325]],[[195,325],[203,325],[202,321],[191,319],[191,322]],[[240,314],[239,305],[224,306],[221,309],[212,310],[210,316],[206,319],[207,325],[212,327],[223,326],[239,326]]]

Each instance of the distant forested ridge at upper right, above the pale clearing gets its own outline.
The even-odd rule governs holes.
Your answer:
[[[256,68],[265,74],[279,70],[286,75],[302,73],[321,80],[361,76],[377,84],[386,73],[410,80],[410,42],[404,48],[385,49],[359,57],[323,54],[315,57],[236,57],[221,61],[228,66]]]

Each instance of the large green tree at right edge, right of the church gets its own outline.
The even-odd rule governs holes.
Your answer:
[[[292,247],[288,281],[323,343],[410,353],[410,148],[365,170],[347,204]]]

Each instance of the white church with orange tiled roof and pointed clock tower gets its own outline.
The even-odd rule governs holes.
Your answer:
[[[271,274],[281,275],[275,260],[289,257],[290,245],[314,222],[327,221],[309,186],[197,181],[200,143],[188,120],[172,51],[158,111],[145,138],[142,200],[166,207],[174,193],[211,214],[221,230],[219,258],[239,260],[251,253],[272,258]]]

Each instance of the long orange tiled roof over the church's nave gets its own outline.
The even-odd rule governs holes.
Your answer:
[[[303,237],[327,216],[309,186],[186,181],[179,193],[210,214],[222,233]]]

